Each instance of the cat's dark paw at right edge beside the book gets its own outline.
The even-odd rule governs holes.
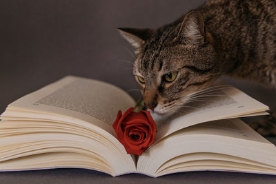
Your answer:
[[[276,112],[265,116],[264,119],[248,123],[262,136],[276,136]]]

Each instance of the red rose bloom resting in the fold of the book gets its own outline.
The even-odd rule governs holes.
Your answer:
[[[132,111],[129,108],[123,115],[119,111],[113,128],[128,154],[141,155],[155,141],[156,125],[150,112]]]

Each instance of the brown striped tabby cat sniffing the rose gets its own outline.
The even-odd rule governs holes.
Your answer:
[[[172,114],[221,74],[276,87],[276,1],[210,0],[160,28],[118,28],[137,50],[133,74],[146,108]],[[276,134],[276,112],[255,123]]]

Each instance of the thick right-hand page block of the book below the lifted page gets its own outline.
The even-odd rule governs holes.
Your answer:
[[[137,170],[150,176],[195,170],[276,174],[275,169],[275,145],[239,119],[211,121],[174,132],[152,145],[137,163]]]

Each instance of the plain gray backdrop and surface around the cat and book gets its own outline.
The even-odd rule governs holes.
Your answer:
[[[204,0],[0,1],[0,112],[15,99],[71,74],[113,83],[137,99],[131,46],[116,28],[155,28],[197,8]],[[276,108],[275,90],[224,78]],[[252,121],[254,119],[247,119]],[[275,138],[268,138],[276,143]],[[187,172],[161,178],[129,174],[112,178],[90,170],[0,173],[0,183],[272,183],[275,176]]]

